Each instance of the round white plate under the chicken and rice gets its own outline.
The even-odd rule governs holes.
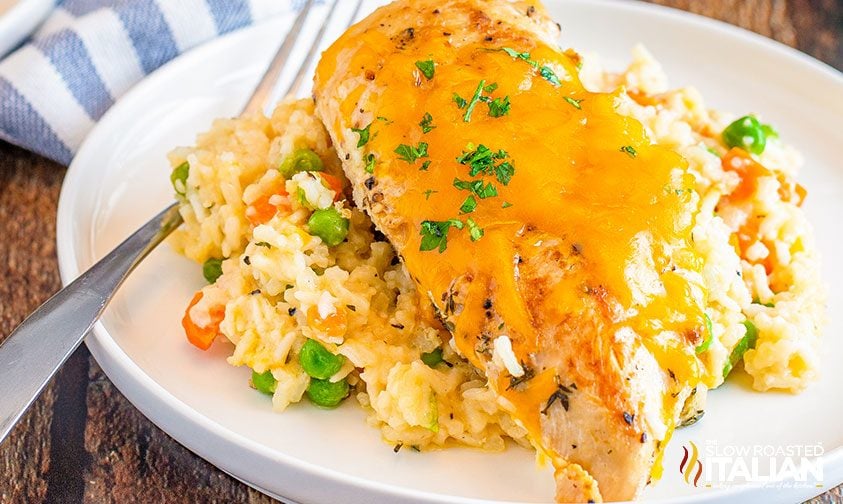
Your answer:
[[[832,286],[823,377],[800,395],[759,394],[735,380],[710,394],[708,413],[667,449],[665,475],[643,500],[793,502],[843,481],[843,78],[761,37],[678,11],[636,3],[548,2],[563,45],[628,60],[645,43],[674,85],[693,83],[710,106],[760,112],[806,157],[801,181]],[[212,118],[236,114],[289,20],[224,37],[157,71],[118,103],[91,133],[65,180],[58,251],[65,282],[110,250],[170,200],[165,153],[192,142]],[[609,35],[611,34],[611,35]],[[546,502],[552,478],[527,450],[451,449],[397,455],[366,426],[355,401],[337,411],[307,404],[283,414],[251,391],[246,369],[229,367],[228,348],[196,351],[179,321],[203,285],[200,268],[169,247],[129,279],[87,344],[117,387],[145,415],[192,451],[263,491],[301,502]],[[838,315],[838,316],[835,316]],[[682,446],[815,445],[825,451],[823,487],[695,488],[678,467]],[[764,459],[761,461],[764,462]],[[705,475],[710,476],[709,474]]]

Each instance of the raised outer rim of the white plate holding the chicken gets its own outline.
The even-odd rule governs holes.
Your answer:
[[[612,9],[620,11],[628,10],[639,13],[643,12],[645,15],[667,18],[669,21],[673,22],[697,25],[702,29],[713,31],[715,33],[719,32],[730,37],[736,37],[742,43],[759,47],[767,52],[772,52],[776,58],[786,58],[794,63],[798,63],[806,70],[818,73],[823,78],[831,79],[834,82],[834,85],[839,87],[841,92],[843,92],[843,72],[840,72],[830,65],[781,42],[769,39],[765,36],[723,21],[707,18],[699,14],[694,14],[672,7],[648,4],[637,0],[632,2],[617,2],[616,0],[545,1],[547,3],[558,2],[562,4],[580,4],[588,5],[590,7],[596,5],[601,8],[611,7]],[[277,16],[274,19],[277,20],[279,17],[282,16]],[[80,179],[82,176],[81,174],[85,171],[85,168],[81,165],[81,163],[77,163],[76,159],[84,159],[87,152],[93,149],[93,146],[97,143],[98,138],[108,136],[108,127],[112,121],[116,120],[114,118],[120,117],[120,112],[126,102],[131,103],[136,99],[136,96],[142,96],[148,87],[154,86],[158,80],[165,78],[162,77],[162,75],[166,76],[169,74],[173,67],[181,65],[185,60],[197,59],[203,57],[204,55],[214,54],[219,50],[219,47],[229,44],[237,44],[238,39],[249,38],[252,32],[260,30],[261,26],[264,24],[265,23],[256,23],[255,25],[218,37],[208,43],[186,51],[165,65],[162,65],[122,96],[117,103],[115,103],[115,105],[106,112],[106,114],[89,133],[74,157],[74,161],[67,170],[59,196],[56,222],[56,246],[62,285],[70,283],[70,281],[76,278],[76,276],[78,276],[82,271],[79,264],[79,251],[74,245],[73,225],[75,220],[72,219],[71,210],[74,209],[77,199],[82,194],[80,191],[84,191],[84,187],[80,186]],[[94,212],[96,212],[96,210],[94,210]],[[214,456],[212,453],[202,450],[201,447],[197,446],[198,443],[196,442],[187,442],[184,439],[184,436],[174,434],[174,431],[178,429],[173,427],[173,425],[175,425],[173,422],[182,422],[184,425],[202,429],[204,431],[203,434],[217,437],[217,439],[227,443],[230,448],[245,450],[246,452],[259,455],[266,460],[282,463],[286,469],[292,470],[293,472],[298,472],[302,475],[319,477],[322,478],[323,481],[330,481],[332,484],[340,484],[340,486],[344,488],[358,488],[368,491],[377,491],[381,498],[394,497],[413,499],[416,502],[453,502],[462,504],[488,502],[486,500],[476,498],[450,496],[402,487],[400,485],[371,481],[334,469],[328,469],[323,466],[319,466],[318,464],[307,462],[270,449],[256,441],[244,437],[236,431],[230,430],[218,424],[172,395],[166,388],[158,384],[151,376],[149,376],[134,360],[132,360],[131,357],[129,357],[125,351],[123,351],[120,345],[111,337],[101,322],[96,323],[94,329],[86,337],[85,344],[90,349],[91,354],[94,356],[97,363],[112,383],[117,386],[118,390],[120,390],[120,392],[136,408],[138,408],[146,418],[164,430],[168,435],[173,437],[179,444],[185,446],[191,452],[199,455],[205,460],[208,460],[213,465],[229,474],[234,475],[234,471],[230,467],[227,467],[225,463],[221,462],[219,460],[219,456]],[[129,390],[131,390],[132,393],[129,393]],[[134,394],[139,395],[135,396]],[[152,402],[148,403],[150,400],[152,400]],[[168,410],[164,413],[158,413],[158,415],[153,416],[150,410],[153,408],[152,405],[154,404],[164,405]],[[824,454],[822,459],[824,466],[836,466],[838,468],[837,472],[840,473],[839,479],[843,481],[843,445],[838,446],[832,451]],[[245,476],[235,476],[235,478],[247,483],[250,486],[258,488],[264,493],[273,494],[273,492],[263,489],[259,484],[248,481],[249,478]],[[833,483],[836,486],[840,483],[840,481],[834,481]],[[828,491],[831,488],[833,488],[833,486],[823,487],[820,489],[820,493]],[[679,501],[685,503],[697,503],[707,502],[716,498],[735,499],[752,490],[753,487],[751,486],[729,487],[694,496],[682,496],[679,498]],[[650,502],[668,503],[677,502],[677,499],[661,498]]]

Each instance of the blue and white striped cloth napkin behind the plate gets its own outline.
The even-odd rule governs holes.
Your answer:
[[[303,0],[59,0],[0,61],[0,138],[69,164],[96,121],[145,75]]]

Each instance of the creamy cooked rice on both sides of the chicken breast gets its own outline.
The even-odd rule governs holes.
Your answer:
[[[769,140],[757,161],[771,175],[758,179],[750,198],[730,201],[726,196],[741,181],[722,167],[727,148],[720,132],[735,117],[706,109],[692,88],[668,90],[659,64],[643,48],[633,56],[620,74],[586,57],[581,77],[592,90],[623,87],[619,111],[640,120],[653,142],[688,159],[696,177],[694,246],[705,261],[714,334],[703,354],[706,385],[723,382],[724,365],[749,320],[758,340],[743,362],[753,386],[803,389],[817,374],[825,293],[810,226],[792,191],[798,153]],[[219,331],[233,344],[229,363],[271,371],[278,411],[305,393],[310,379],[297,356],[311,338],[345,356],[331,380],[348,380],[369,423],[389,443],[498,450],[510,438],[527,445],[525,431],[499,408],[482,374],[447,344],[449,334],[369,219],[347,199],[334,202],[334,190],[318,174],[283,180],[276,167],[302,147],[314,150],[326,172],[342,179],[308,100],[285,101],[271,118],[218,120],[194,147],[170,154],[174,167],[190,165],[181,206],[185,225],[170,243],[200,263],[225,259],[223,275],[202,289],[188,316],[203,326],[215,307],[224,307]],[[268,202],[283,211],[265,223],[250,222],[250,206],[278,187],[292,196],[276,194]],[[351,226],[346,241],[329,248],[308,233],[307,220],[312,210],[332,205]],[[752,236],[743,238],[741,253],[735,243],[747,229]],[[332,327],[314,322],[328,319]],[[507,362],[506,342],[500,346],[496,342],[497,358],[518,366]],[[438,347],[447,365],[425,365],[421,355]]]

